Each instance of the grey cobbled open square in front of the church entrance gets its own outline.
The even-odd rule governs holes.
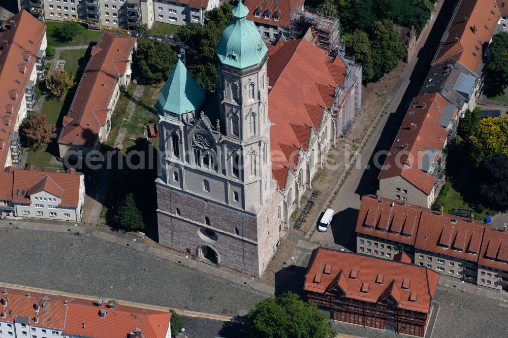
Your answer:
[[[267,295],[85,235],[0,229],[0,282],[181,310],[245,315]]]

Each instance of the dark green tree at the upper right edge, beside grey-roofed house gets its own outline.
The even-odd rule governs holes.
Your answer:
[[[498,93],[508,86],[508,32],[492,37],[490,44],[491,58],[487,65],[489,80],[495,83]],[[489,87],[493,87],[492,84]]]

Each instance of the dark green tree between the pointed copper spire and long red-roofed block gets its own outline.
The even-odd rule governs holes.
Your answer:
[[[134,62],[135,73],[144,83],[165,81],[176,62],[171,45],[150,39],[138,39],[138,52]]]

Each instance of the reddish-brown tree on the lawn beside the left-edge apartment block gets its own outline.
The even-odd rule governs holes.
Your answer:
[[[31,114],[28,121],[22,124],[22,130],[24,140],[34,148],[41,148],[56,137],[56,126],[48,123],[46,114]]]

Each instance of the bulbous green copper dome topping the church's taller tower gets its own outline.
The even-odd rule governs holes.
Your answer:
[[[238,69],[260,63],[268,53],[256,25],[247,20],[249,10],[241,0],[233,9],[235,19],[223,31],[222,38],[215,49],[220,62]]]

